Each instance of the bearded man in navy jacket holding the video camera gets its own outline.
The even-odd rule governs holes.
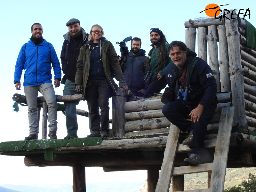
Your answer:
[[[147,57],[145,50],[141,48],[141,39],[138,37],[132,38],[131,51],[127,55],[127,60],[120,63],[124,82],[128,85],[128,89],[136,96],[143,97],[145,92],[145,63]],[[119,61],[121,58],[119,57]]]

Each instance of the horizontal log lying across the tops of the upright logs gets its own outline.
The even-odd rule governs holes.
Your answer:
[[[184,23],[185,28],[198,28],[198,27],[208,27],[209,25],[224,25],[224,20],[218,20],[215,18],[204,19],[204,20],[188,20]]]

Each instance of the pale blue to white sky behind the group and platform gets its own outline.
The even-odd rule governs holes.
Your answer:
[[[185,42],[184,22],[189,19],[207,17],[204,11],[208,4],[214,3],[222,6],[221,9],[246,9],[250,10],[250,19],[245,17],[252,25],[256,26],[256,8],[253,1],[172,1],[172,0],[147,0],[147,1],[67,1],[67,0],[13,0],[1,1],[1,30],[0,30],[0,58],[2,74],[1,101],[1,131],[0,142],[24,140],[29,134],[27,107],[20,106],[18,113],[13,112],[12,105],[14,93],[24,94],[16,90],[13,84],[15,63],[23,44],[31,37],[31,25],[39,22],[43,27],[43,38],[52,43],[60,60],[63,35],[68,32],[66,23],[71,18],[81,21],[80,25],[89,32],[93,24],[99,24],[104,29],[104,36],[112,42],[117,54],[120,54],[119,45],[128,36],[140,37],[141,48],[146,50],[146,55],[151,49],[149,29],[159,28],[163,31],[169,43],[174,40]],[[243,2],[243,4],[241,4]],[[241,15],[240,15],[241,16]],[[130,43],[126,43],[130,50]],[[53,71],[52,71],[53,73]],[[23,76],[23,74],[22,74]],[[23,83],[21,79],[21,84]],[[63,95],[64,85],[54,88],[55,93]],[[40,96],[40,94],[39,94]],[[109,104],[111,108],[111,102]],[[80,101],[79,109],[88,111],[86,101]],[[110,118],[111,118],[110,110]],[[89,134],[88,118],[78,116],[78,137]],[[42,122],[42,121],[41,121]],[[42,124],[39,126],[41,138]],[[63,139],[67,135],[65,116],[58,112],[57,136]],[[0,185],[15,184],[71,184],[72,167],[26,167],[23,156],[0,156]],[[95,175],[95,172],[98,175]],[[27,176],[33,173],[33,176]],[[37,174],[35,174],[37,173]],[[49,174],[52,173],[52,174]],[[99,174],[100,173],[100,174]],[[36,177],[35,177],[36,176]],[[86,167],[86,182],[94,183],[99,180],[107,182],[137,182],[147,179],[147,171],[104,172],[101,167]]]

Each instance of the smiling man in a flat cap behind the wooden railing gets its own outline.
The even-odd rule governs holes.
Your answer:
[[[80,52],[80,47],[88,40],[88,34],[80,26],[78,19],[70,19],[66,23],[68,32],[63,35],[64,42],[60,53],[62,71],[64,73],[63,79],[60,82],[65,84],[63,95],[77,94],[75,86],[76,76],[76,61]],[[79,101],[64,102],[66,113],[66,126],[68,136],[77,137],[77,119],[76,119],[76,105]]]

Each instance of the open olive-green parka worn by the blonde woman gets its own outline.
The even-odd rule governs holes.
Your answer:
[[[103,63],[104,72],[108,79],[109,84],[111,85],[113,91],[117,91],[117,84],[114,82],[114,79],[111,75],[111,70],[113,69],[113,73],[115,74],[115,78],[117,81],[123,80],[123,73],[121,67],[118,63],[118,57],[116,55],[116,50],[110,41],[104,39],[102,42],[101,48],[101,59]],[[76,79],[75,85],[81,85],[83,100],[85,100],[85,89],[89,76],[91,62],[91,48],[87,43],[80,49],[80,54],[78,56],[76,62]]]

